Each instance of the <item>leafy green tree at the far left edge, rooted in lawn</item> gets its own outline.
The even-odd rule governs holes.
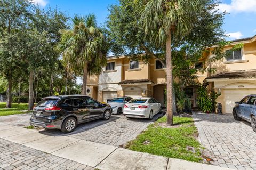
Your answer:
[[[0,74],[8,81],[6,108],[11,108],[13,74],[18,69],[16,59],[17,31],[27,28],[27,18],[30,10],[29,1],[2,0],[0,2]]]

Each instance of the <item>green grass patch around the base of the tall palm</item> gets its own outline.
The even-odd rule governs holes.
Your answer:
[[[167,127],[165,122],[166,116],[150,124],[137,139],[130,141],[126,148],[164,157],[201,161],[202,146],[196,139],[198,133],[193,118],[174,116],[174,127],[171,128]],[[150,143],[144,144],[145,141]],[[187,151],[187,146],[194,147],[196,152]]]

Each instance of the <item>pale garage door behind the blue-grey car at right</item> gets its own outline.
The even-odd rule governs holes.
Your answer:
[[[226,113],[232,113],[235,102],[239,102],[246,95],[256,94],[255,89],[225,89],[224,90],[224,102]],[[223,110],[223,111],[225,111]]]

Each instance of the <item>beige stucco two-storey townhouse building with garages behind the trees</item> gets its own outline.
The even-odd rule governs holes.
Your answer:
[[[212,57],[211,51],[205,53],[197,68],[216,68],[214,74],[198,74],[197,82],[209,82],[209,90],[220,92],[218,102],[224,113],[231,113],[236,101],[245,95],[256,94],[256,36],[232,41],[225,46],[230,50],[235,44],[243,43],[241,50],[230,53],[223,61],[205,62]],[[125,56],[111,56],[99,76],[90,76],[87,80],[87,95],[101,102],[117,96],[153,96],[164,104],[166,88],[166,69],[157,59],[150,59],[147,64],[132,61]],[[189,86],[185,93],[193,107],[196,106],[196,86]]]

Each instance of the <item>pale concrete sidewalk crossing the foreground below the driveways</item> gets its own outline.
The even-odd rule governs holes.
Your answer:
[[[218,166],[192,163],[186,160],[166,158],[148,153],[131,151],[112,145],[54,136],[41,131],[0,124],[0,138],[19,143],[51,155],[76,161],[98,169],[207,169],[225,170]],[[1,164],[1,162],[0,162]]]

